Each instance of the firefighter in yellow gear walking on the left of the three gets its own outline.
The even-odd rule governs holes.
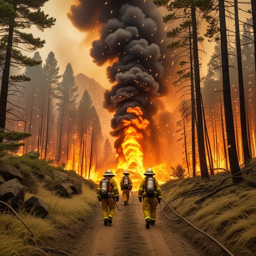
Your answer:
[[[104,225],[112,223],[115,212],[115,201],[118,202],[119,200],[119,191],[113,176],[112,170],[107,169],[103,174],[104,178],[100,180],[97,187],[97,198],[98,201],[101,201]]]

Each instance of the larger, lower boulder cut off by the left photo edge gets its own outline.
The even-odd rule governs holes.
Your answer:
[[[10,205],[14,210],[18,210],[19,205],[23,206],[24,197],[24,186],[18,179],[13,178],[0,185],[0,200]],[[0,203],[0,210],[10,209],[5,204]]]

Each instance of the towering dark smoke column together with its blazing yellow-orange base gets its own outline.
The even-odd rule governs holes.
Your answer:
[[[103,105],[114,112],[111,135],[116,137],[118,166],[141,175],[143,147],[150,148],[148,141],[154,136],[154,99],[160,95],[158,81],[163,74],[158,46],[161,33],[149,1],[113,0],[105,1],[103,9],[94,7],[95,13],[101,11],[97,22],[103,25],[100,38],[92,42],[90,55],[98,65],[112,63],[106,72],[113,85],[105,91]]]

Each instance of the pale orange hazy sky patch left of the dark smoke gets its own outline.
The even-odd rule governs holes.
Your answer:
[[[78,31],[67,17],[73,3],[75,0],[49,0],[43,6],[43,11],[56,18],[56,22],[54,26],[46,28],[44,32],[36,31],[36,35],[46,41],[44,47],[38,51],[43,62],[50,51],[55,54],[60,67],[60,74],[63,73],[66,64],[70,62],[74,75],[84,73],[88,77],[94,78],[103,87],[107,87],[105,67],[96,66],[89,55],[89,48],[93,39],[85,40],[86,33]]]

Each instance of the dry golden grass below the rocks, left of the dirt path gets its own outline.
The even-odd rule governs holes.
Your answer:
[[[32,194],[27,193],[26,198]],[[49,205],[49,215],[46,219],[19,212],[22,224],[13,214],[0,215],[0,256],[47,255],[40,247],[47,247],[59,229],[68,229],[70,225],[82,221],[91,212],[97,200],[95,190],[82,185],[82,194],[74,195],[71,199],[60,198],[54,193],[38,186],[36,196]]]

